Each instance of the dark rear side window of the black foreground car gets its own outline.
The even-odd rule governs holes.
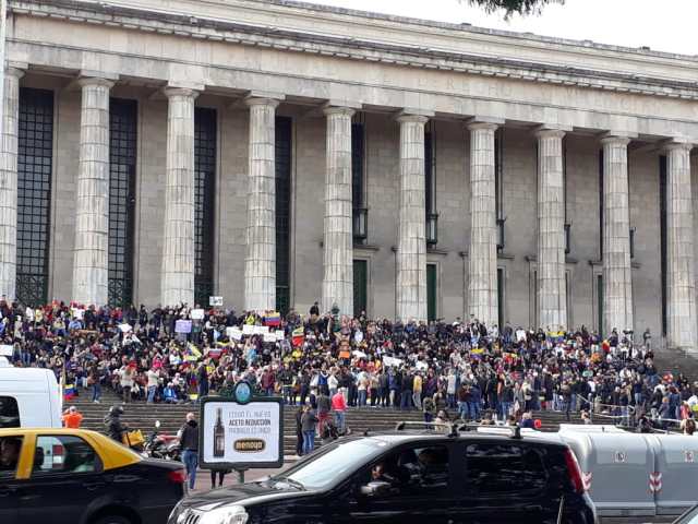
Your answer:
[[[544,489],[547,473],[534,448],[510,444],[470,444],[466,450],[470,493],[500,495]]]

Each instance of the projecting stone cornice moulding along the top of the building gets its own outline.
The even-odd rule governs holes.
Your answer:
[[[248,0],[249,1],[249,0]],[[275,1],[276,5],[303,5]],[[316,7],[313,5],[313,9]],[[101,24],[132,31],[178,35],[195,39],[274,48],[341,59],[382,62],[400,67],[445,70],[483,76],[524,80],[545,84],[598,88],[671,98],[698,99],[698,82],[599,71],[576,67],[500,59],[419,46],[315,34],[250,23],[194,17],[106,2],[76,0],[10,0],[15,15]],[[262,9],[262,8],[261,8]],[[686,57],[682,57],[686,59]],[[691,63],[693,66],[693,63]],[[698,67],[698,63],[696,63]]]

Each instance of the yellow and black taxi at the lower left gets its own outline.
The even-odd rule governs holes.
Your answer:
[[[95,431],[0,429],[0,523],[166,522],[184,495],[180,463],[144,458]]]

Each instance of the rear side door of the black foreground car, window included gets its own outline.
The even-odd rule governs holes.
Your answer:
[[[540,450],[508,440],[462,445],[466,471],[459,491],[464,497],[455,522],[541,524],[556,516],[551,511],[554,502],[545,497],[547,472]]]

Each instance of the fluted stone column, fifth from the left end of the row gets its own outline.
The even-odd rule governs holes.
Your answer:
[[[351,223],[351,117],[353,109],[328,107],[323,234],[323,311],[333,305],[353,314],[353,231]]]

